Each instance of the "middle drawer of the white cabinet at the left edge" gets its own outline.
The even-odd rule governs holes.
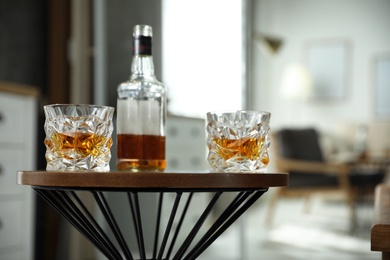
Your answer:
[[[16,172],[23,168],[24,155],[22,150],[0,149],[0,196],[23,191],[24,186],[16,184]]]

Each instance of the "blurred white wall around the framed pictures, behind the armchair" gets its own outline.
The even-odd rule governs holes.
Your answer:
[[[333,129],[340,122],[389,121],[374,113],[373,60],[390,53],[389,0],[254,0],[253,34],[283,40],[274,56],[253,40],[254,109],[272,112],[271,126],[314,125]],[[346,40],[349,44],[347,97],[342,101],[296,102],[280,95],[282,71],[304,63],[311,40]]]

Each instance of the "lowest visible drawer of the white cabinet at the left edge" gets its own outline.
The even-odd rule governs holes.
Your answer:
[[[0,248],[20,244],[22,224],[22,203],[0,202]]]

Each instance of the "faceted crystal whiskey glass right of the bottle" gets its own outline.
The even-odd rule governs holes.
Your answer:
[[[207,161],[211,172],[266,172],[271,114],[207,113]]]

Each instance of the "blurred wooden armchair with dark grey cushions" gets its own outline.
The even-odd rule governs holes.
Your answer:
[[[313,194],[338,192],[345,196],[350,209],[351,223],[355,222],[354,193],[349,183],[348,164],[325,162],[319,136],[315,129],[282,129],[273,133],[276,170],[288,172],[289,186],[279,188],[271,198],[266,221],[271,224],[276,202],[280,197],[306,198],[309,210]]]

